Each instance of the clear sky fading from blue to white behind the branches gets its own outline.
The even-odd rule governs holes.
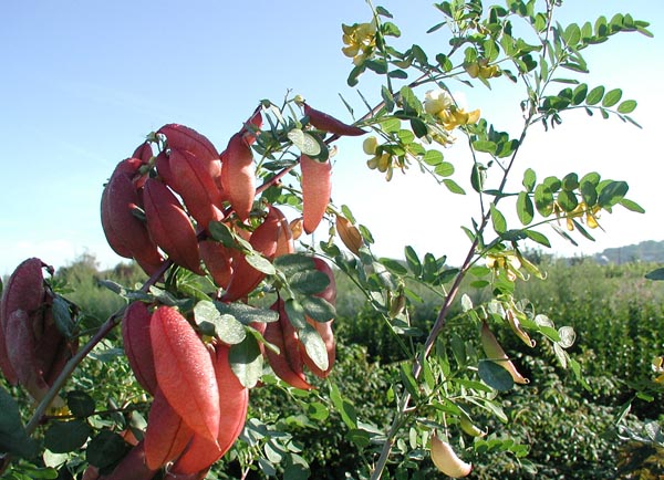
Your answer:
[[[438,21],[430,2],[382,3],[409,42],[445,41],[424,33]],[[584,81],[622,87],[639,102],[634,116],[644,128],[579,113],[556,132],[536,132],[522,160],[542,177],[596,169],[627,180],[630,197],[647,211],[616,209],[602,217],[606,233],[598,232],[594,243],[582,240],[578,249],[554,240],[554,251],[564,254],[664,239],[658,195],[664,3],[567,0],[559,19],[581,22],[615,12],[649,20],[655,38],[623,34],[589,50],[591,75]],[[120,261],[100,225],[102,186],[117,161],[166,123],[189,125],[222,149],[259,100],[279,102],[289,90],[342,118],[349,117],[339,94],[362,112],[345,83],[352,65],[340,50],[341,23],[370,18],[362,0],[10,0],[2,18],[0,274],[32,255],[56,267],[85,251],[103,267]],[[463,97],[498,128],[517,134],[519,97],[502,86],[466,90]],[[360,90],[378,98],[369,77]],[[413,244],[421,253],[460,259],[467,241],[458,226],[477,215],[474,201],[443,191],[415,168],[386,184],[365,167],[356,142],[340,142],[339,148],[333,198],[372,230],[378,254],[397,257]],[[464,159],[461,148],[445,154],[452,161]],[[458,181],[466,177],[459,167]]]

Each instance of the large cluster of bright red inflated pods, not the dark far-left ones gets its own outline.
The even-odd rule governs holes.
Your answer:
[[[323,134],[361,135],[364,131],[303,105],[307,123]],[[141,145],[121,161],[102,196],[102,225],[115,252],[133,258],[151,275],[164,272],[166,259],[196,274],[209,274],[219,292],[216,301],[247,302],[266,273],[247,261],[247,251],[217,241],[212,222],[222,222],[234,236],[269,261],[294,252],[293,228],[273,205],[256,207],[257,185],[252,145],[261,134],[257,109],[218,153],[208,138],[183,125],[156,132],[162,146]],[[302,219],[310,233],[322,220],[331,195],[330,160],[300,157]],[[262,211],[256,220],[256,212]],[[251,218],[250,218],[251,213]],[[312,258],[313,268],[329,278],[315,294],[334,304],[336,289],[331,268]],[[278,296],[271,310],[278,320],[253,323],[266,342],[260,345],[274,374],[295,388],[310,389],[304,367],[319,376],[334,363],[332,321],[305,317],[325,345],[325,368],[314,362],[290,322]],[[229,345],[203,338],[186,314],[173,306],[132,303],[123,319],[124,346],[139,384],[154,396],[147,429],[141,442],[106,479],[152,479],[166,469],[169,478],[204,478],[210,466],[234,445],[247,416],[246,388],[234,374]],[[93,471],[89,478],[95,478]]]

